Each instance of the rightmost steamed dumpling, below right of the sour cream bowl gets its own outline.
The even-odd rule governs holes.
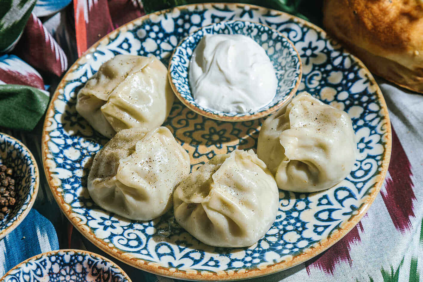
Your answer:
[[[294,192],[341,182],[352,170],[356,149],[349,115],[306,92],[264,121],[257,144],[279,189]]]

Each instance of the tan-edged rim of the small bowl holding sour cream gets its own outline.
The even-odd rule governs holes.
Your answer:
[[[179,7],[183,7],[183,6],[179,6]],[[178,47],[181,46],[181,44],[186,41],[190,36],[192,36],[194,33],[197,33],[199,30],[204,29],[206,27],[211,27],[213,25],[216,25],[217,23],[212,23],[210,25],[205,25],[203,27],[198,28],[197,30],[194,30],[192,33],[188,34],[187,36],[185,36],[184,38],[182,38],[178,44],[176,45],[175,49],[173,49],[172,55],[170,55],[170,59],[169,59],[169,65],[168,65],[168,79],[169,79],[169,83],[170,83],[170,87],[173,90],[173,93],[175,93],[175,96],[178,97],[179,101],[182,102],[182,104],[185,105],[185,107],[187,107],[188,109],[192,110],[193,112],[198,113],[199,115],[202,115],[206,118],[212,118],[214,120],[222,120],[222,121],[233,121],[233,122],[238,122],[238,121],[248,121],[248,120],[256,120],[258,118],[264,118],[268,115],[271,115],[273,112],[276,112],[277,110],[279,110],[281,107],[285,106],[286,104],[289,103],[289,101],[291,101],[291,99],[294,97],[294,94],[297,93],[298,90],[298,86],[301,82],[302,79],[302,62],[301,62],[301,57],[298,53],[297,48],[295,48],[295,44],[289,40],[288,37],[284,36],[280,31],[275,30],[272,27],[269,27],[269,25],[265,25],[261,22],[254,22],[254,21],[243,21],[243,20],[238,20],[238,19],[231,19],[231,20],[225,20],[225,21],[221,21],[219,23],[222,22],[233,22],[233,21],[240,21],[240,22],[251,22],[255,25],[263,25],[265,27],[268,27],[269,30],[272,30],[273,32],[276,32],[279,36],[282,36],[283,38],[285,38],[289,44],[291,44],[291,47],[294,48],[295,53],[297,53],[297,57],[299,60],[299,74],[298,77],[296,78],[296,82],[294,85],[294,88],[291,89],[291,91],[288,93],[288,95],[282,99],[279,103],[277,103],[276,105],[270,107],[269,109],[267,109],[266,111],[263,112],[257,112],[254,115],[251,114],[247,114],[247,115],[243,115],[243,116],[225,116],[225,115],[218,115],[215,113],[211,113],[211,112],[206,112],[204,110],[199,109],[198,107],[196,107],[195,105],[189,103],[187,101],[187,99],[185,99],[184,97],[182,97],[181,93],[179,92],[178,88],[176,87],[175,83],[173,83],[173,79],[172,79],[172,75],[170,74],[170,66],[172,65],[172,58],[175,55],[176,49]]]

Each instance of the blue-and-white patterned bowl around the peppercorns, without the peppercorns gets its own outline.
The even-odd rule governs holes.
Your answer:
[[[19,140],[0,133],[0,164],[13,169],[16,203],[0,221],[0,239],[14,230],[29,213],[37,197],[40,174],[32,153]]]

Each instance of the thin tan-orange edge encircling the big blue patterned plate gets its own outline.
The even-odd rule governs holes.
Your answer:
[[[258,10],[258,11],[266,11],[268,13],[272,13],[272,16],[285,16],[287,18],[292,19],[294,22],[298,22],[301,25],[305,27],[309,27],[310,29],[316,30],[321,34],[324,38],[329,38],[327,34],[322,30],[320,27],[317,27],[316,25],[311,24],[310,22],[307,22],[303,19],[300,19],[298,17],[283,13],[281,11],[271,10],[267,8],[262,8],[260,6],[255,5],[249,5],[249,4],[234,4],[234,3],[205,3],[205,4],[191,4],[191,5],[184,5],[174,8],[177,9],[188,9],[190,11],[195,10],[197,6],[201,6],[204,9],[206,8],[212,8],[214,6],[225,6],[227,8],[235,10],[239,7],[246,7],[249,10]],[[170,11],[170,10],[167,10]],[[122,27],[119,27],[118,29],[114,30],[113,32],[109,33],[107,36],[102,38],[101,40],[97,41],[96,44],[93,44],[90,49],[88,49],[72,66],[69,68],[68,72],[65,74],[64,78],[68,76],[72,71],[74,71],[78,65],[81,63],[84,63],[86,61],[86,55],[94,52],[95,48],[98,47],[100,44],[107,44],[108,41],[110,41],[113,38],[116,38],[120,32],[125,32],[129,29],[131,29],[135,23],[142,22],[144,20],[149,19],[152,16],[159,16],[163,11],[157,11],[152,14],[148,14],[146,16],[140,17],[138,19],[133,20],[132,22],[127,23],[126,25],[123,25]],[[334,44],[336,44],[336,41],[332,41]],[[381,101],[381,109],[380,112],[385,115],[384,119],[384,139],[385,142],[385,154],[383,156],[383,159],[381,159],[381,168],[380,173],[377,175],[375,179],[375,184],[373,186],[372,191],[365,196],[365,200],[363,205],[360,205],[360,207],[357,209],[356,213],[352,214],[349,221],[343,224],[342,227],[336,232],[335,234],[332,234],[329,238],[325,240],[321,240],[319,244],[316,246],[313,246],[310,249],[307,249],[307,251],[303,252],[300,255],[296,255],[292,257],[290,260],[283,260],[279,263],[275,263],[273,265],[267,265],[264,268],[255,268],[255,269],[240,269],[238,271],[228,270],[228,271],[220,271],[215,274],[204,271],[180,271],[175,268],[168,268],[157,265],[157,263],[149,263],[147,261],[141,260],[141,259],[135,259],[134,257],[131,257],[121,250],[111,246],[111,244],[107,244],[104,241],[101,241],[99,238],[97,238],[94,233],[91,232],[88,226],[82,222],[80,217],[78,217],[77,214],[73,214],[71,211],[71,207],[64,201],[63,197],[60,196],[60,184],[61,180],[58,178],[57,175],[55,175],[52,170],[55,169],[56,164],[54,159],[52,158],[51,154],[49,153],[49,148],[47,146],[47,142],[49,142],[49,128],[51,126],[54,126],[52,124],[52,121],[54,120],[53,116],[55,115],[54,111],[54,101],[57,99],[57,97],[60,94],[63,94],[63,86],[65,84],[65,79],[62,79],[60,84],[58,85],[58,90],[56,90],[52,102],[49,104],[49,108],[47,110],[46,119],[44,121],[44,130],[43,130],[43,137],[42,137],[42,153],[43,153],[43,163],[44,163],[44,171],[47,176],[47,180],[50,186],[50,189],[52,190],[52,193],[55,197],[55,200],[58,202],[60,208],[62,209],[63,213],[66,215],[66,217],[71,221],[71,223],[86,237],[88,238],[93,244],[104,250],[105,252],[109,253],[113,257],[123,261],[124,263],[127,263],[131,266],[143,269],[145,271],[159,274],[162,276],[167,277],[174,277],[179,279],[189,279],[189,280],[204,280],[204,281],[219,281],[219,280],[238,280],[238,279],[247,279],[247,278],[253,278],[253,277],[259,277],[267,274],[272,274],[281,270],[284,270],[286,268],[290,268],[292,266],[296,266],[300,263],[305,262],[306,260],[309,260],[310,258],[320,254],[324,250],[328,249],[330,246],[335,244],[339,239],[341,239],[343,236],[345,236],[357,223],[360,221],[360,219],[363,217],[363,215],[367,212],[368,208],[370,207],[371,203],[375,200],[376,196],[379,194],[379,191],[381,189],[382,183],[385,179],[387,168],[390,162],[390,154],[391,154],[391,148],[392,148],[392,135],[391,135],[391,128],[390,128],[390,120],[388,115],[387,106],[385,103],[385,99],[382,95],[381,90],[377,86],[376,81],[374,80],[371,73],[367,70],[367,68],[364,66],[364,64],[354,57],[353,55],[349,54],[349,57],[354,61],[354,64],[362,68],[364,71],[365,77],[368,79],[368,82],[374,87],[374,92],[377,95],[377,98],[379,101]]]

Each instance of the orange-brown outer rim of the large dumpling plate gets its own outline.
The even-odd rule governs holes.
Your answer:
[[[366,196],[363,205],[361,205],[361,207],[359,208],[360,212],[353,215],[348,222],[345,223],[345,225],[341,228],[341,230],[337,233],[335,233],[334,236],[330,237],[329,239],[323,240],[321,242],[319,242],[319,245],[316,247],[313,247],[311,249],[309,249],[308,252],[302,253],[300,255],[295,256],[292,260],[290,261],[281,261],[279,263],[267,266],[264,269],[259,269],[259,268],[255,268],[252,270],[248,270],[248,271],[244,271],[242,273],[239,272],[234,272],[234,271],[222,271],[222,273],[217,273],[217,275],[213,275],[211,273],[209,273],[209,275],[203,275],[201,272],[196,272],[196,273],[188,273],[188,271],[180,271],[180,270],[175,270],[175,271],[170,271],[170,268],[165,268],[162,266],[158,266],[156,263],[148,263],[142,259],[135,259],[130,257],[129,255],[125,255],[124,253],[120,252],[119,250],[108,246],[108,244],[106,244],[105,242],[100,241],[93,233],[90,232],[89,228],[85,225],[80,225],[80,219],[77,216],[72,216],[72,212],[69,209],[69,206],[64,202],[64,200],[60,197],[59,192],[56,191],[57,188],[59,188],[59,186],[55,185],[54,183],[54,179],[52,177],[52,172],[50,172],[50,166],[48,164],[48,161],[50,160],[47,155],[49,154],[49,149],[47,146],[47,142],[49,141],[49,131],[47,131],[47,127],[49,126],[49,118],[52,118],[54,115],[54,110],[53,110],[53,103],[54,101],[57,99],[59,93],[60,88],[63,88],[63,85],[65,83],[65,78],[72,72],[75,70],[75,68],[77,67],[78,63],[80,63],[84,58],[85,55],[92,52],[93,48],[96,48],[99,46],[99,44],[102,43],[102,41],[108,39],[108,38],[115,38],[115,36],[120,33],[120,32],[124,32],[126,30],[128,30],[129,28],[131,28],[135,22],[142,22],[148,18],[150,18],[151,16],[154,15],[159,15],[162,14],[164,12],[168,12],[168,11],[172,11],[173,9],[194,9],[197,6],[202,6],[202,7],[208,7],[208,6],[217,6],[217,5],[225,5],[227,7],[250,7],[250,8],[254,8],[254,9],[266,9],[268,11],[271,11],[273,15],[275,16],[280,16],[280,15],[285,15],[288,18],[293,19],[296,22],[301,23],[302,25],[305,25],[307,27],[310,27],[314,30],[317,30],[319,33],[321,33],[321,35],[325,38],[327,38],[330,41],[334,41],[337,42],[335,39],[331,38],[330,36],[327,35],[327,33],[322,30],[320,27],[304,20],[301,19],[297,16],[293,16],[291,14],[282,12],[282,11],[277,11],[277,10],[273,10],[273,9],[269,9],[269,8],[264,8],[258,5],[250,5],[250,4],[243,4],[243,3],[201,3],[201,4],[189,4],[189,5],[181,5],[181,6],[177,6],[174,7],[172,9],[166,9],[166,10],[161,10],[161,11],[157,11],[151,14],[147,14],[144,16],[141,16],[137,19],[132,20],[131,22],[126,23],[125,25],[122,25],[121,27],[118,27],[116,30],[113,30],[111,33],[107,34],[106,36],[104,36],[103,38],[101,38],[99,41],[97,41],[95,44],[93,44],[91,47],[89,47],[87,49],[87,51],[85,51],[76,61],[75,63],[69,68],[69,70],[66,72],[66,74],[63,76],[62,80],[60,81],[60,83],[58,84],[58,87],[55,90],[55,93],[49,103],[49,107],[47,109],[46,112],[46,117],[44,120],[44,126],[43,126],[43,132],[42,132],[42,142],[41,142],[41,151],[42,151],[42,159],[43,159],[43,167],[44,167],[44,172],[46,174],[46,178],[47,178],[47,182],[49,184],[49,187],[52,191],[52,194],[56,200],[56,202],[58,203],[60,209],[63,211],[63,213],[65,214],[65,216],[69,219],[69,221],[75,226],[75,228],[77,228],[77,230],[82,233],[82,235],[84,235],[89,241],[91,241],[94,245],[96,245],[97,247],[99,247],[100,249],[102,249],[102,251],[108,253],[109,255],[115,257],[118,260],[121,260],[122,262],[130,265],[130,266],[134,266],[136,268],[140,268],[141,270],[144,271],[148,271],[150,273],[153,274],[157,274],[157,275],[161,275],[161,276],[165,276],[165,277],[171,277],[171,278],[176,278],[176,279],[187,279],[187,280],[195,280],[195,281],[223,281],[223,280],[239,280],[239,279],[248,279],[248,278],[255,278],[255,277],[260,277],[260,276],[264,276],[264,275],[268,275],[268,274],[273,274],[282,270],[285,270],[287,268],[291,268],[293,266],[296,266],[300,263],[305,262],[306,260],[309,260],[313,257],[315,257],[316,255],[319,255],[321,252],[324,252],[326,249],[328,249],[330,246],[332,246],[333,244],[335,244],[336,242],[338,242],[341,238],[343,238],[343,236],[345,236],[350,230],[352,230],[352,228],[358,224],[358,222],[360,221],[360,219],[364,216],[364,214],[368,211],[368,208],[370,207],[370,205],[374,202],[376,196],[379,194],[379,191],[382,187],[383,181],[385,180],[386,174],[387,174],[387,170],[388,170],[388,165],[390,162],[390,156],[391,156],[391,150],[392,150],[392,131],[391,131],[391,124],[390,124],[390,118],[389,118],[389,112],[387,110],[387,105],[385,102],[385,98],[382,95],[382,91],[379,88],[379,85],[377,85],[373,75],[371,74],[371,72],[367,69],[367,67],[363,64],[363,62],[358,59],[357,57],[355,57],[354,55],[349,53],[349,56],[351,56],[352,59],[355,60],[355,62],[357,62],[358,66],[360,66],[360,68],[362,68],[366,74],[368,74],[368,78],[369,80],[374,83],[374,85],[376,85],[376,91],[375,93],[377,93],[378,99],[381,103],[381,111],[383,110],[385,117],[386,117],[386,135],[385,135],[385,140],[386,140],[386,145],[385,145],[385,156],[382,160],[382,170],[381,173],[377,176],[376,178],[376,183],[374,186],[373,191],[371,192],[371,194],[369,194],[368,196]],[[344,49],[346,50],[346,49]],[[51,160],[50,160],[51,162]],[[54,168],[54,167],[52,167]]]

